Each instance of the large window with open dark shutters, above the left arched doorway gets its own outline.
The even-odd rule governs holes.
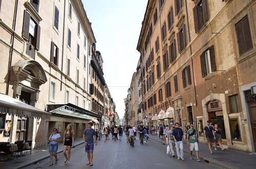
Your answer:
[[[26,54],[35,58],[35,49],[39,50],[40,26],[32,19],[30,14],[24,11],[22,37],[27,40]]]

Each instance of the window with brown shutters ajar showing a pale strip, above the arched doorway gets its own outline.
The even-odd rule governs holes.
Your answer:
[[[202,77],[212,73],[212,71],[216,70],[215,64],[215,55],[214,55],[214,46],[210,46],[206,51],[202,53],[200,56],[201,60],[201,71]]]

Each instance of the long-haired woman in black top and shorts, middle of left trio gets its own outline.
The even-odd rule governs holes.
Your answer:
[[[70,124],[68,124],[65,132],[64,132],[64,144],[63,144],[63,154],[65,156],[65,164],[69,164],[70,161],[70,151],[71,147],[74,147],[74,132]],[[67,149],[68,149],[68,156],[67,156]]]

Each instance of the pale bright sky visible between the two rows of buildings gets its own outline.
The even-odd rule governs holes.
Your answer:
[[[140,53],[136,50],[147,0],[82,0],[119,118]]]

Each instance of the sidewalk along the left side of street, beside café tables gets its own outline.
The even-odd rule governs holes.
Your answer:
[[[83,143],[82,138],[78,138],[74,140],[74,146],[77,146],[79,144]],[[58,151],[57,153],[62,153],[63,151],[63,142],[59,143]],[[49,146],[37,148],[35,150],[32,150],[31,155],[30,151],[28,151],[28,155],[19,157],[19,155],[16,156],[16,159],[10,159],[5,162],[0,163],[0,168],[3,169],[17,169],[17,168],[23,168],[25,166],[28,166],[33,163],[37,163],[38,161],[42,159],[49,158]]]

